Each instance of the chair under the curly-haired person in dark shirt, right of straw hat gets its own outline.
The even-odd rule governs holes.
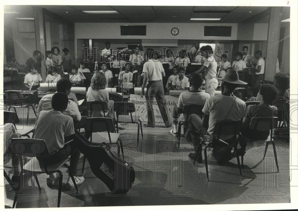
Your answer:
[[[273,129],[277,128],[277,121],[278,121],[278,117],[253,117],[250,121],[249,129],[252,129],[254,131],[268,131],[268,130],[270,130],[270,141],[265,141],[267,138],[264,140],[266,142],[266,147],[265,147],[263,160],[265,159],[269,143],[272,143],[273,152],[274,152],[274,160],[276,162],[277,172],[279,172],[275,143],[274,143],[274,140],[272,139]],[[243,135],[243,133],[241,133],[241,132],[240,132],[240,136],[243,137],[248,142],[253,142],[253,141],[259,140],[258,138],[247,137],[247,136]],[[242,164],[242,171],[243,171],[243,155],[241,155],[241,161],[242,161],[241,164]]]

